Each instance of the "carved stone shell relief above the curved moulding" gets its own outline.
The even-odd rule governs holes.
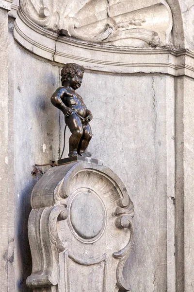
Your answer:
[[[20,9],[50,31],[118,46],[164,46],[173,24],[165,0],[20,0]]]

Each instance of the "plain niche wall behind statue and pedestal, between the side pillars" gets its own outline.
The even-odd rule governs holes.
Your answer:
[[[16,240],[16,278],[21,283],[18,291],[24,291],[25,277],[31,269],[29,266],[29,270],[26,270],[25,266],[26,261],[30,260],[27,219],[30,192],[35,183],[31,175],[32,165],[57,159],[58,151],[60,149],[61,153],[63,147],[65,125],[63,114],[50,103],[51,92],[59,86],[60,68],[38,60],[17,45],[15,49],[16,68],[20,68],[20,60],[24,59],[31,68],[30,72],[20,68],[15,83],[18,96],[15,108],[20,109],[15,113],[15,167],[20,169],[15,176],[16,206],[17,210],[25,210],[25,216],[23,212],[16,212],[19,231]],[[32,84],[30,90],[29,81]],[[85,73],[79,93],[94,116],[91,122],[93,138],[87,155],[113,169],[123,180],[135,205],[135,243],[125,268],[132,291],[154,291],[161,286],[167,287],[168,265],[171,270],[169,285],[173,287],[174,78],[162,74],[119,76]],[[65,156],[68,153],[68,137],[67,130]],[[29,145],[27,141],[32,143]],[[50,151],[51,145],[53,148]],[[169,182],[166,169],[171,174]]]

